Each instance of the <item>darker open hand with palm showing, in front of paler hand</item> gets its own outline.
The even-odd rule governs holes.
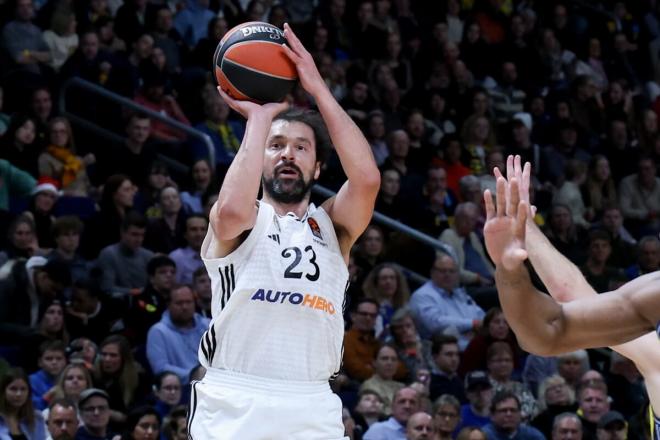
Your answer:
[[[519,268],[527,259],[525,221],[529,208],[526,201],[520,200],[519,194],[518,180],[514,177],[507,185],[502,176],[497,178],[496,206],[490,191],[484,192],[486,249],[495,266],[506,270]]]

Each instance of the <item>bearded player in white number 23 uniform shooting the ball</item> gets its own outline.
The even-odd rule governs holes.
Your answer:
[[[328,380],[342,359],[349,250],[371,219],[380,174],[311,55],[284,29],[285,51],[321,117],[220,91],[247,129],[201,250],[213,320],[199,349],[207,372],[192,385],[195,440],[344,437],[341,401]],[[348,180],[315,207],[309,197],[326,148],[323,122]]]

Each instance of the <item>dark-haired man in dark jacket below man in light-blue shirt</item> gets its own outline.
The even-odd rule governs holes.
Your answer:
[[[467,399],[463,388],[463,380],[458,376],[460,355],[456,336],[435,336],[431,353],[434,360],[434,368],[431,370],[431,401],[435,401],[443,394],[450,394],[461,403],[465,403]]]

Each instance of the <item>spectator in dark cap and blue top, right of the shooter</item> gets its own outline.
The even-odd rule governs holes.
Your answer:
[[[461,407],[461,422],[457,430],[466,426],[481,428],[490,422],[490,404],[493,386],[483,371],[471,371],[465,375],[465,394],[468,403]]]

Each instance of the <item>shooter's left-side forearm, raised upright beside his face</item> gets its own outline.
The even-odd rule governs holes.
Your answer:
[[[218,195],[218,218],[241,222],[254,214],[271,122],[270,118],[258,114],[248,119],[243,142],[227,170]]]

